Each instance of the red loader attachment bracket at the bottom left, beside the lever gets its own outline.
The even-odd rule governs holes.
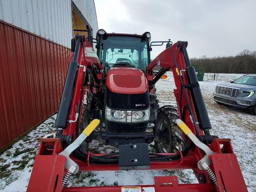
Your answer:
[[[27,191],[55,192],[61,190],[66,163],[66,157],[58,155],[61,150],[60,139],[40,140]]]

